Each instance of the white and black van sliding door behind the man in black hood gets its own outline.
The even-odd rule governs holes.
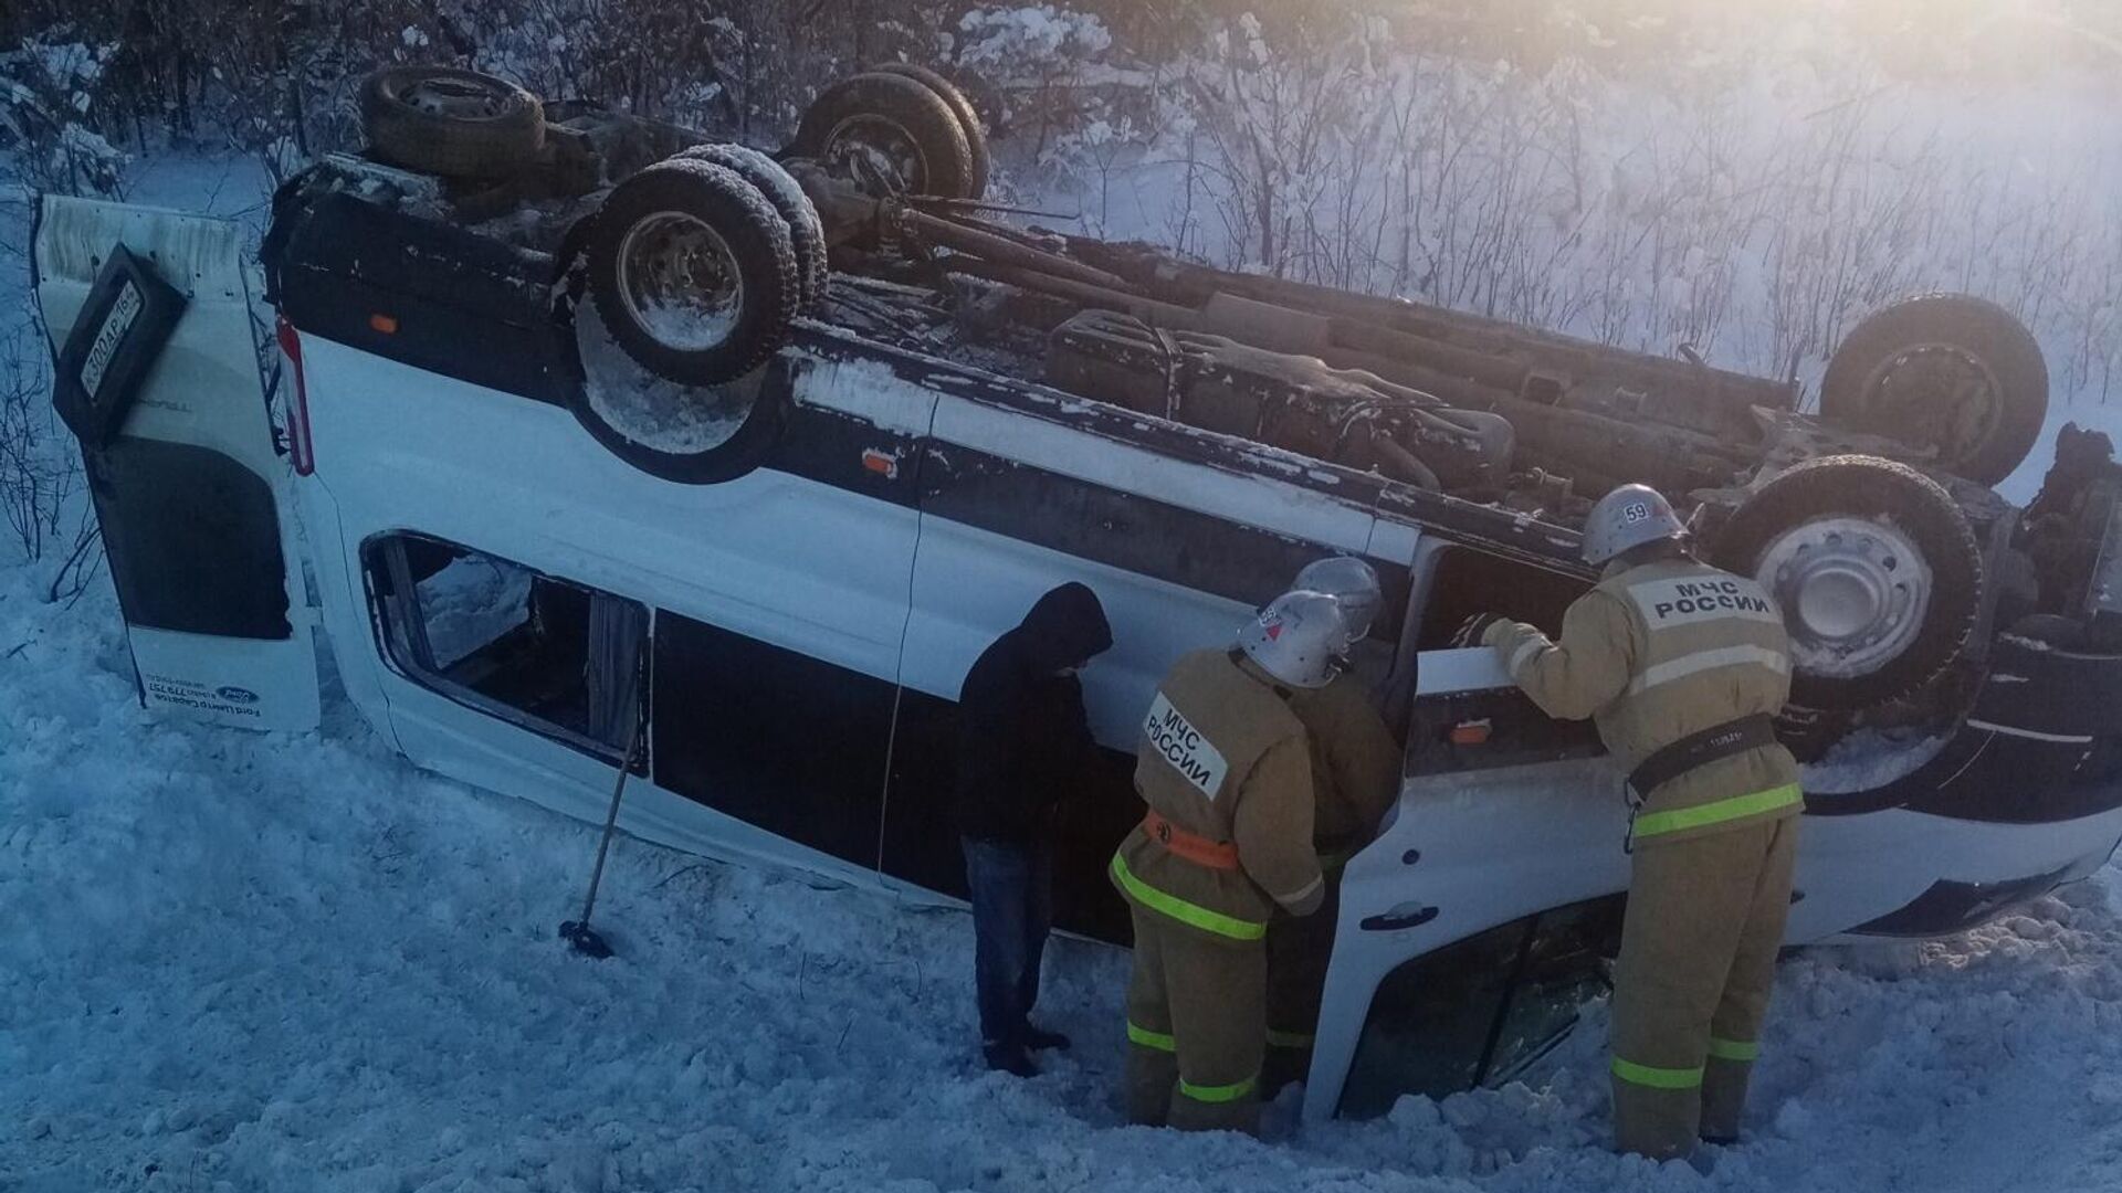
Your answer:
[[[1008,410],[1012,399],[1027,410]],[[1036,401],[997,395],[995,403],[946,397],[936,410],[921,471],[885,872],[963,892],[951,811],[959,686],[1046,590],[1082,582],[1106,607],[1114,645],[1082,673],[1091,734],[1103,749],[1053,828],[1055,917],[1127,940],[1127,904],[1106,864],[1142,822],[1135,741],[1156,681],[1188,650],[1231,645],[1303,565],[1362,554],[1375,518],[1265,476],[1188,461],[1188,429],[1161,429],[1152,450],[1129,439],[1142,433],[1140,416],[1078,405],[1055,418]],[[1101,420],[1106,410],[1112,416]],[[1396,601],[1405,588],[1394,569],[1379,571]]]

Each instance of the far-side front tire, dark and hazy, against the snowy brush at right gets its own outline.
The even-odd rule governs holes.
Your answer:
[[[1821,418],[1937,452],[1937,467],[1997,484],[2048,418],[2048,363],[2005,308],[1969,295],[1897,301],[1842,340]]]

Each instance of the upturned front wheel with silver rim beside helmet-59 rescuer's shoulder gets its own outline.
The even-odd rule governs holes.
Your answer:
[[[1982,607],[1982,550],[1931,478],[1878,456],[1797,465],[1725,522],[1717,567],[1753,575],[1791,630],[1791,703],[1853,711],[1944,673]]]

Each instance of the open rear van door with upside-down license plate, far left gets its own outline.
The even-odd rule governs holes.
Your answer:
[[[314,728],[312,622],[238,227],[45,197],[34,253],[53,405],[81,439],[140,701]]]

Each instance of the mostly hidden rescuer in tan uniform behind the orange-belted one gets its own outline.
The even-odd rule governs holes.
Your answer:
[[[1324,592],[1341,603],[1354,654],[1386,603],[1369,563],[1333,556],[1305,565],[1297,590]],[[1335,921],[1341,911],[1341,868],[1371,843],[1401,788],[1401,743],[1377,713],[1364,677],[1345,667],[1324,688],[1290,692],[1290,711],[1311,739],[1311,849],[1326,877],[1318,915],[1275,917],[1267,926],[1267,1064],[1260,1095],[1273,1097],[1311,1068],[1311,1038],[1333,959]]]

